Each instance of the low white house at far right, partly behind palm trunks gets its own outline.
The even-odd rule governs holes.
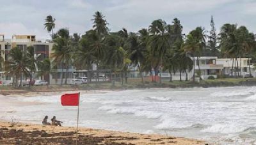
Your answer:
[[[237,61],[234,59],[217,59],[217,64],[221,64],[223,65],[223,72],[222,74],[224,74],[225,76],[236,76],[236,72],[237,75],[239,73],[239,75],[244,76],[245,74],[249,74],[250,73],[250,69],[249,69],[249,62],[251,61],[251,58],[237,58]],[[238,64],[238,69],[236,71],[236,67]],[[233,67],[233,69],[232,69]],[[251,72],[253,73],[253,68],[251,67]],[[253,76],[255,76],[255,74],[253,74]]]

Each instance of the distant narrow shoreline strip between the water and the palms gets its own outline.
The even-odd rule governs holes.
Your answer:
[[[12,95],[12,94],[37,94],[37,93],[47,93],[47,92],[76,92],[76,91],[84,91],[86,93],[95,93],[102,92],[104,90],[132,90],[132,89],[148,89],[148,88],[193,88],[193,87],[202,87],[202,88],[211,88],[211,87],[225,87],[225,86],[256,86],[256,79],[234,79],[233,80],[225,80],[225,79],[215,79],[208,81],[201,81],[200,83],[191,82],[191,81],[175,81],[175,82],[165,82],[165,83],[148,83],[146,82],[144,85],[142,83],[136,84],[125,84],[120,85],[117,84],[112,86],[111,83],[101,83],[99,85],[90,84],[90,86],[79,85],[79,86],[71,86],[71,85],[49,85],[49,86],[31,86],[22,87],[22,88],[14,88],[12,86],[0,86],[0,95]]]

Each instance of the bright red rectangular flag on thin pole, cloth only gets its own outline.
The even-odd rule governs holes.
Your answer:
[[[79,105],[79,93],[66,93],[61,95],[62,106],[78,106]]]

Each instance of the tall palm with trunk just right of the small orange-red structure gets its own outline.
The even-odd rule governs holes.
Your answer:
[[[148,48],[152,56],[158,59],[156,66],[153,67],[156,74],[158,74],[158,67],[160,67],[159,83],[161,83],[163,57],[171,46],[170,36],[168,36],[166,29],[166,22],[163,20],[154,20],[149,26]]]

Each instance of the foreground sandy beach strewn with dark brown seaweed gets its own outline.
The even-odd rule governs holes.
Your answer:
[[[205,141],[158,134],[79,128],[78,144],[205,144]],[[75,144],[75,127],[0,121],[0,144]]]

